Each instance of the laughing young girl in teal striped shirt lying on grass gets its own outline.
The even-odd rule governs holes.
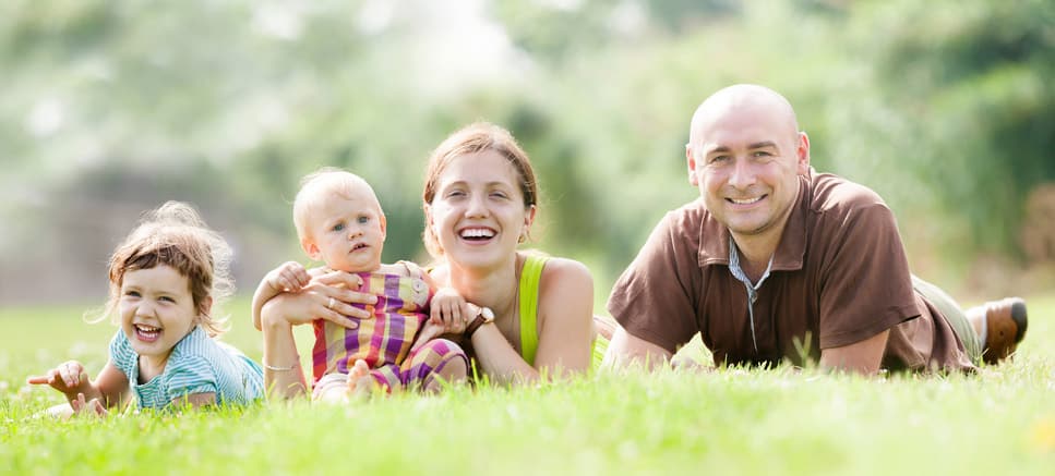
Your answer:
[[[190,206],[169,202],[148,213],[110,257],[110,297],[101,318],[121,329],[94,381],[67,362],[34,385],[49,385],[69,405],[52,414],[95,413],[135,396],[140,408],[242,405],[263,394],[263,373],[236,349],[214,340],[226,328],[213,304],[233,290],[230,246]]]

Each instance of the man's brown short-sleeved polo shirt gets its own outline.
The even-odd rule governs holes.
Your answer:
[[[716,365],[776,364],[890,329],[886,368],[973,369],[937,309],[912,289],[894,213],[862,185],[831,174],[800,191],[754,303],[729,271],[729,231],[695,200],[667,213],[608,302],[632,335],[675,352],[699,332]]]

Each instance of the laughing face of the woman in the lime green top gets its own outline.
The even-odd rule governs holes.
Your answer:
[[[519,183],[513,164],[493,150],[447,163],[425,213],[452,265],[500,266],[513,256],[535,219]]]

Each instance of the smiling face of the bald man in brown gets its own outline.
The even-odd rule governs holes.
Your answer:
[[[810,142],[794,121],[763,102],[706,113],[686,147],[688,181],[734,237],[783,230],[810,168]]]

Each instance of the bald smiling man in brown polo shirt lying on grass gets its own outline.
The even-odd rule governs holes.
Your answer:
[[[962,313],[909,273],[894,213],[810,167],[791,105],[762,86],[705,100],[685,146],[700,199],[671,211],[620,277],[609,365],[668,361],[697,332],[715,364],[973,370],[1007,357],[1026,305]]]

